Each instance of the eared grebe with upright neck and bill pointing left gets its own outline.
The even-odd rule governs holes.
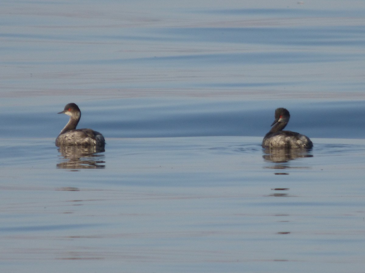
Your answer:
[[[64,111],[58,114],[69,115],[70,120],[56,138],[57,147],[71,145],[104,147],[105,140],[99,132],[91,129],[76,129],[81,118],[80,108],[76,104],[67,104]]]

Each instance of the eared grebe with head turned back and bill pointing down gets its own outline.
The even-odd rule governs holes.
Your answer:
[[[283,131],[289,122],[290,114],[285,108],[275,110],[275,120],[271,130],[265,135],[262,147],[269,148],[312,148],[313,143],[305,135],[297,132]]]

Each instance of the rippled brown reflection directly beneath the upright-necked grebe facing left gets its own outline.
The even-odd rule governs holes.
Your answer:
[[[58,169],[104,169],[104,147],[98,146],[61,146],[58,151],[67,161],[58,163]]]

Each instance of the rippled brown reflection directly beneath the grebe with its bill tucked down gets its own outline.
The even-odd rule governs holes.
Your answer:
[[[269,148],[264,149],[265,154],[262,156],[265,160],[272,162],[288,162],[296,158],[313,157],[310,154],[311,149],[306,148]]]

